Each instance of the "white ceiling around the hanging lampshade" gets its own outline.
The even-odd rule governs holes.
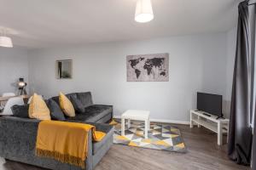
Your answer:
[[[136,0],[0,0],[14,45],[47,48],[228,31],[239,0],[152,0],[154,20],[134,21]]]

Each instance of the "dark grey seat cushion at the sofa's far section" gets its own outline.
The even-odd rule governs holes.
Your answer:
[[[91,105],[85,108],[85,111],[76,114],[74,117],[67,117],[67,120],[77,122],[97,122],[102,117],[112,114],[113,107],[111,105]]]

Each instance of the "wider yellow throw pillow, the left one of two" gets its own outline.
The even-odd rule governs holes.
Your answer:
[[[49,109],[38,94],[33,94],[29,104],[28,116],[32,119],[50,120]]]

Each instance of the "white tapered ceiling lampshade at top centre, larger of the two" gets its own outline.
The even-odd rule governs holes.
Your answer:
[[[151,0],[137,0],[135,20],[145,23],[154,19]]]

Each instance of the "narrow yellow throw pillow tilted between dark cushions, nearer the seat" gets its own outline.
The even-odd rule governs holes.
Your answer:
[[[66,116],[75,116],[75,111],[73,105],[69,99],[67,99],[65,94],[60,93],[59,96],[61,110],[64,112]]]

